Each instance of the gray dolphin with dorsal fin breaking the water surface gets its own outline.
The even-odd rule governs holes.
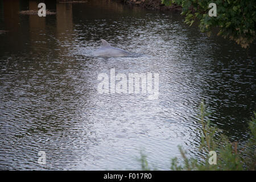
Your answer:
[[[106,40],[101,39],[101,47],[93,51],[93,56],[97,57],[122,57],[131,55],[129,52],[112,47]]]

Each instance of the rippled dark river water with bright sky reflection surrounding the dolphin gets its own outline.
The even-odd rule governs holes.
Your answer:
[[[179,13],[113,1],[55,3],[56,15],[0,1],[0,169],[169,169],[177,145],[197,156],[202,99],[231,140],[246,139],[255,107],[255,43],[246,51],[183,23]],[[89,57],[100,43],[139,57]],[[159,73],[159,97],[100,94],[100,73]],[[38,164],[38,152],[46,164]]]

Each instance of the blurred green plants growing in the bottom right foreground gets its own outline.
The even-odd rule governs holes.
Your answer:
[[[217,164],[210,165],[209,156],[201,156],[200,161],[196,159],[188,159],[185,152],[180,147],[180,153],[183,158],[182,164],[177,164],[177,159],[172,159],[171,169],[175,170],[255,170],[256,152],[255,152],[255,138],[256,138],[256,113],[254,118],[249,122],[249,129],[251,131],[249,140],[244,146],[237,142],[231,143],[229,139],[222,134],[220,129],[210,124],[208,117],[209,113],[205,111],[204,102],[200,105],[199,123],[201,141],[199,152],[209,154],[209,151],[217,152]],[[243,147],[241,147],[243,146]]]

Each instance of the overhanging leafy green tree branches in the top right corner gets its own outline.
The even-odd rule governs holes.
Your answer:
[[[216,3],[217,16],[210,17],[209,3]],[[162,0],[164,5],[172,3],[182,6],[185,23],[190,26],[196,19],[200,20],[200,30],[208,36],[212,28],[218,27],[218,34],[224,38],[234,40],[241,47],[247,48],[256,38],[256,3],[251,0]]]

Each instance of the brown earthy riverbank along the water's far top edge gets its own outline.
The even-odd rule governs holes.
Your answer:
[[[163,10],[163,11],[181,11],[182,7],[176,4],[166,6],[162,4],[161,0],[115,0],[121,1],[128,5],[141,6],[150,10]]]

